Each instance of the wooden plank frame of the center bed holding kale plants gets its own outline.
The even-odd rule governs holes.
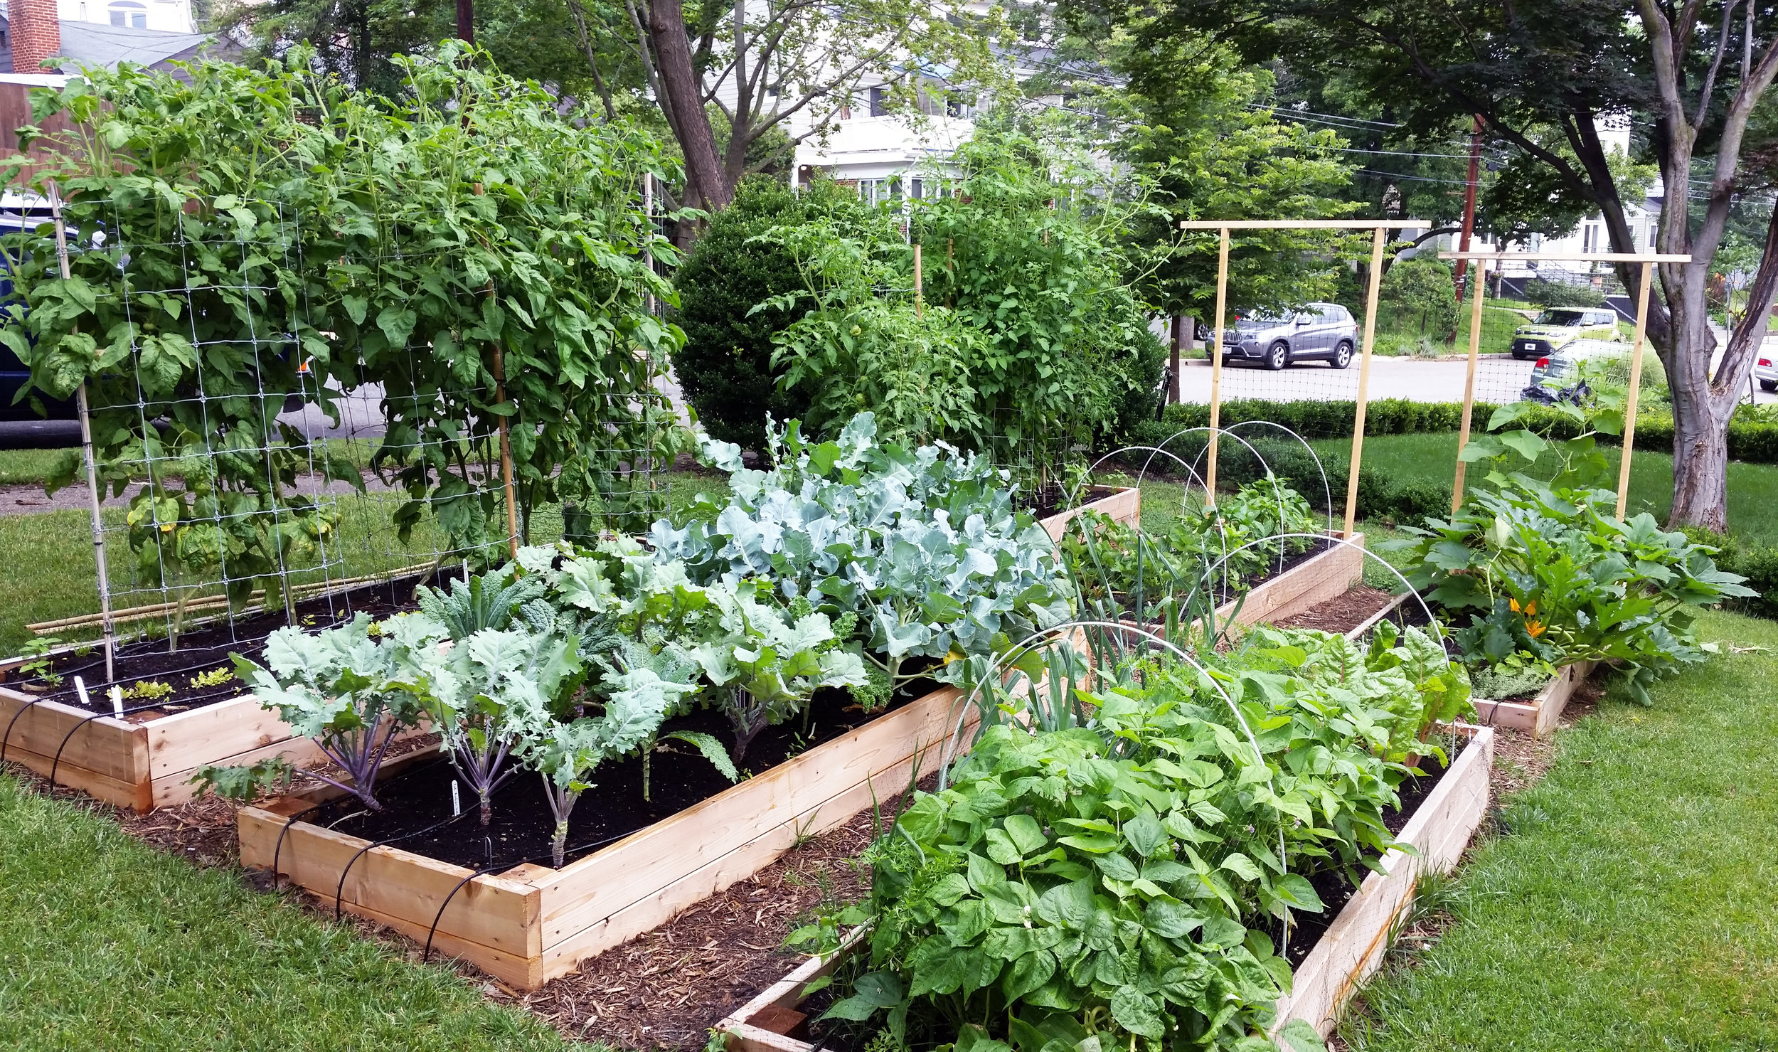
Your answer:
[[[276,862],[324,905],[535,990],[907,789],[916,766],[937,764],[957,700],[953,688],[930,691],[562,869],[521,864],[478,874],[290,821],[338,798],[331,787],[240,809],[240,860],[265,869]]]

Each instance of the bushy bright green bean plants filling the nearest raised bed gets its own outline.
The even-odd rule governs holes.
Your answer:
[[[1262,631],[1204,670],[1099,672],[1076,723],[999,721],[914,794],[841,917],[873,928],[829,1018],[900,1047],[1273,1047],[1278,944],[1325,908],[1312,878],[1376,865],[1406,761],[1467,711],[1462,668],[1417,631],[1369,650]],[[1319,1048],[1303,1024],[1277,1036]]]

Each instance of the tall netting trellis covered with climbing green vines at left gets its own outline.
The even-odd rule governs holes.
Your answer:
[[[7,172],[34,215],[0,236],[0,339],[36,396],[85,386],[110,606],[139,627],[498,562],[509,521],[523,542],[665,510],[686,439],[654,382],[681,336],[651,313],[670,247],[642,185],[670,163],[478,60],[402,60],[396,101],[300,53],[37,92],[73,128]],[[57,483],[82,476],[69,457]]]

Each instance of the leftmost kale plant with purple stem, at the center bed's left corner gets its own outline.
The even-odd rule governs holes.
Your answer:
[[[414,656],[436,649],[441,636],[439,626],[427,617],[372,622],[359,613],[313,634],[277,629],[265,642],[265,666],[240,654],[229,658],[260,705],[277,709],[297,734],[315,739],[322,753],[345,769],[348,782],[309,769],[293,773],[345,789],[366,809],[382,810],[375,796],[377,768],[395,736],[414,727],[421,714],[407,686],[418,663]],[[290,771],[261,768],[265,778],[276,773],[288,780]],[[238,768],[204,768],[194,780],[219,794],[251,796],[263,778],[242,777]]]

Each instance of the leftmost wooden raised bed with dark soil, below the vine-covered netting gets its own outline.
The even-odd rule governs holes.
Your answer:
[[[409,592],[412,583],[407,581]],[[299,615],[313,604],[320,606],[308,613],[327,615],[329,620],[334,610],[327,604],[341,608],[354,604],[372,613],[395,610],[396,604],[388,597],[391,588],[395,585],[359,588],[343,597],[309,599],[299,604]],[[283,613],[272,620],[283,624]],[[105,658],[96,647],[89,654],[80,654],[75,647],[52,652],[48,656],[52,668],[64,675],[64,684],[53,689],[21,689],[27,677],[20,675],[18,668],[30,658],[0,663],[4,757],[39,775],[53,777],[57,785],[80,789],[105,803],[137,812],[190,800],[197,791],[190,784],[192,773],[204,764],[252,764],[279,753],[295,764],[322,759],[313,741],[293,736],[277,713],[261,709],[251,693],[235,689],[238,684],[188,688],[188,679],[196,672],[226,666],[229,649],[254,654],[258,643],[204,645],[204,631],[197,626],[187,633],[187,642],[192,647],[176,654],[167,654],[164,643],[153,643],[139,645],[144,647],[142,654],[126,650],[126,656],[119,658],[119,682],[160,677],[176,686],[162,704],[144,707],[142,702],[126,700],[121,718],[110,714],[105,688],[98,684],[105,675]],[[142,665],[140,672],[132,673],[132,661]],[[178,673],[171,673],[169,668],[178,668]],[[73,693],[76,673],[91,675],[94,681],[89,684],[92,707],[80,705]]]

